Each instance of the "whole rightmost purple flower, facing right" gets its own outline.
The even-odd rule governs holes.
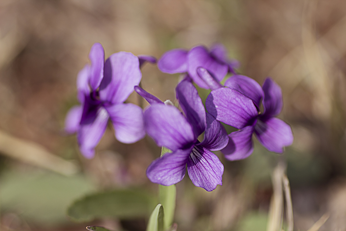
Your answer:
[[[252,134],[269,151],[282,153],[291,145],[290,125],[275,118],[283,106],[281,88],[271,78],[261,87],[255,80],[235,75],[225,82],[226,88],[212,90],[206,100],[208,112],[218,121],[240,129],[229,134],[221,150],[228,160],[240,160],[253,152]],[[260,112],[261,100],[264,112]]]

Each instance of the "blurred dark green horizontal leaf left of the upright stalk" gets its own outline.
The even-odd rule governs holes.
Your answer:
[[[103,217],[148,217],[157,199],[143,189],[118,189],[85,196],[75,201],[67,214],[77,222]]]

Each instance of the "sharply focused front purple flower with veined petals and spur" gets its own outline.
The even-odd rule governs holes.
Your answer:
[[[176,87],[176,98],[186,115],[172,105],[136,86],[136,92],[150,104],[145,112],[145,127],[157,145],[172,153],[154,160],[147,168],[147,177],[156,184],[173,185],[185,176],[185,166],[193,184],[212,191],[222,185],[224,166],[211,151],[224,148],[228,143],[225,128],[206,113],[197,89],[191,82],[181,81]],[[198,136],[204,132],[204,140]]]

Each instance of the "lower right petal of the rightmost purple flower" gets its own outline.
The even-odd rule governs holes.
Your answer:
[[[293,134],[290,125],[278,118],[270,118],[265,122],[257,120],[255,135],[266,149],[282,153],[284,146],[293,143]]]

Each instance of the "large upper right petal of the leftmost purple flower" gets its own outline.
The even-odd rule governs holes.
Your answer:
[[[141,78],[137,56],[124,51],[112,54],[104,64],[100,99],[113,104],[124,102]]]

